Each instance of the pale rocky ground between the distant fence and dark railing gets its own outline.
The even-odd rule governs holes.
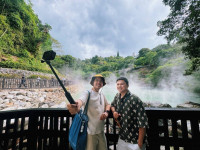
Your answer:
[[[0,91],[0,111],[28,108],[65,108],[66,103],[67,100],[61,88]]]

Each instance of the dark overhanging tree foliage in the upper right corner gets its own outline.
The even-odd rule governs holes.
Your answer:
[[[163,0],[171,12],[164,21],[159,21],[158,35],[165,35],[168,42],[185,43],[183,53],[192,60],[190,72],[200,67],[200,1]]]

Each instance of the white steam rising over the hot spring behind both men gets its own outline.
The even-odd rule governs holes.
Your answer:
[[[200,103],[200,95],[193,92],[194,87],[199,86],[199,81],[192,75],[185,76],[185,69],[184,64],[171,67],[168,76],[160,80],[157,88],[141,80],[137,71],[127,73],[126,70],[128,69],[125,69],[121,71],[121,76],[129,80],[130,92],[140,97],[145,103],[169,104],[172,107],[188,101]],[[70,80],[77,86],[76,92],[72,94],[74,99],[78,99],[85,90],[92,89],[90,85],[92,76],[88,77],[88,80],[84,80],[80,72],[69,68],[65,70],[66,76],[70,77]],[[106,78],[106,85],[101,89],[109,102],[113,101],[117,93],[117,78],[114,74]]]

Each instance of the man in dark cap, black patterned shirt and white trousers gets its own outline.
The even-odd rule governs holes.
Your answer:
[[[128,90],[127,78],[117,79],[117,90],[111,110],[120,123],[117,150],[145,150],[143,143],[148,121],[143,103]]]

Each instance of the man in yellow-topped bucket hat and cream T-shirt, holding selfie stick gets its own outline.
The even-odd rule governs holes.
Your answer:
[[[105,79],[98,74],[92,77],[90,84],[93,86],[90,91],[88,104],[88,136],[87,150],[106,150],[106,138],[104,134],[104,120],[108,117],[110,105],[107,99],[99,90],[106,85]],[[77,101],[76,104],[68,104],[67,108],[71,114],[80,111],[81,106],[86,104],[88,91],[86,91]]]

